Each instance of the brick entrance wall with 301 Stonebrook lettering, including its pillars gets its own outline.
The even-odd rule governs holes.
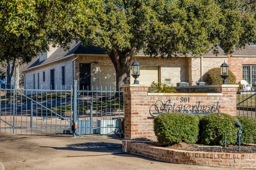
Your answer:
[[[190,86],[177,88],[179,93],[164,94],[148,93],[148,87],[140,84],[124,85],[124,139],[155,141],[154,119],[150,113],[156,113],[157,109],[154,108],[160,110],[163,104],[169,111],[183,108],[182,112],[236,115],[237,88],[238,85]]]

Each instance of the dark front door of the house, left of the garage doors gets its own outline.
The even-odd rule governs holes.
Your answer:
[[[80,63],[79,64],[79,80],[80,80],[80,84],[79,84],[79,89],[80,90],[90,90],[90,80],[91,80],[91,66],[90,64],[86,64],[86,63]]]

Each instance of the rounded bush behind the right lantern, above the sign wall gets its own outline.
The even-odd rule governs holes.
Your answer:
[[[228,78],[226,79],[228,84],[236,84],[236,76],[229,70],[228,71]],[[220,76],[220,67],[212,68],[208,70],[204,74],[204,82],[206,82],[207,85],[217,85],[222,84],[223,79]]]

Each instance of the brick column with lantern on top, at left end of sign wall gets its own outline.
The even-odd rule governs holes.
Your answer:
[[[148,103],[148,86],[129,84],[124,90],[124,139],[147,140],[156,138],[153,120],[148,119],[150,105]]]

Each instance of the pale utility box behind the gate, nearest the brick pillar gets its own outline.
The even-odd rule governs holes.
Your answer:
[[[97,120],[97,133],[110,134],[118,130],[118,119]]]

